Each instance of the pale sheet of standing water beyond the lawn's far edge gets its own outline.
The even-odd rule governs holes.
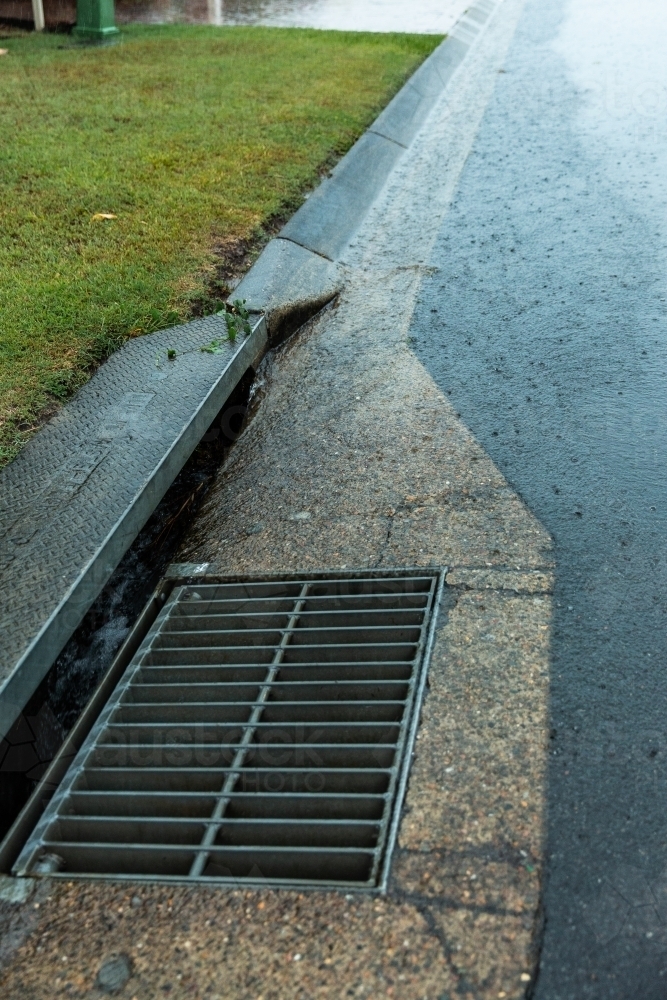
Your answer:
[[[118,24],[266,24],[444,34],[469,0],[117,0]]]

